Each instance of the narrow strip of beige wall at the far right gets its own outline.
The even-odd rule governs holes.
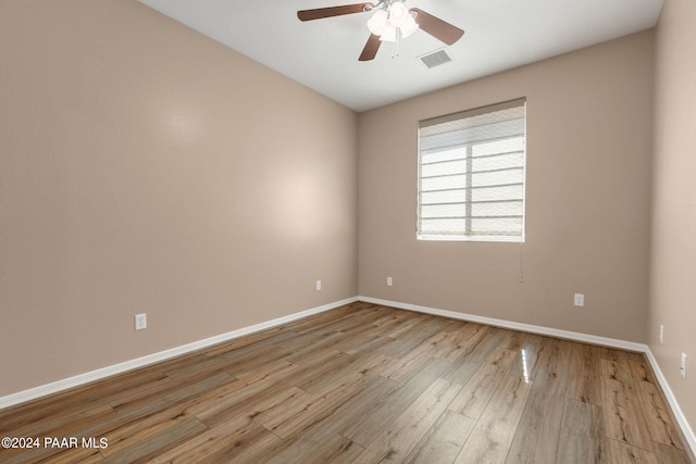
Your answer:
[[[696,427],[696,3],[668,0],[657,27],[648,344]],[[659,326],[664,326],[664,343]],[[689,363],[680,375],[681,353]]]

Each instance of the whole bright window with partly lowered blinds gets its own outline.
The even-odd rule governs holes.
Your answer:
[[[418,238],[524,241],[526,99],[419,123]]]

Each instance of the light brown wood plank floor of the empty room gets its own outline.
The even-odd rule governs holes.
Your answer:
[[[5,436],[40,440],[5,464],[689,462],[643,354],[362,302],[0,411]]]

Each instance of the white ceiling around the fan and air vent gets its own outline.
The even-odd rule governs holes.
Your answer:
[[[423,30],[373,61],[358,57],[370,13],[302,23],[298,10],[356,0],[140,0],[174,20],[356,111],[650,28],[663,0],[408,0],[464,29],[455,61],[428,70],[418,57],[445,47]],[[376,3],[376,0],[374,1]]]

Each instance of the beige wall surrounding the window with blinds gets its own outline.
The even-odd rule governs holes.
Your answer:
[[[632,35],[360,114],[360,294],[644,342],[652,40]],[[418,241],[418,121],[518,97],[524,246]]]

